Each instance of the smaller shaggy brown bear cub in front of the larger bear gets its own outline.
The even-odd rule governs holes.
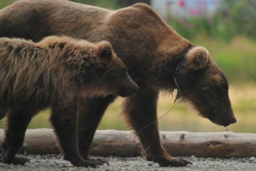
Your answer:
[[[0,38],[0,109],[7,128],[0,161],[24,164],[17,158],[31,118],[50,107],[50,117],[64,158],[75,166],[96,167],[78,153],[78,98],[116,94],[130,96],[138,89],[126,66],[107,41],[50,36],[42,41]],[[3,112],[6,111],[6,112]]]

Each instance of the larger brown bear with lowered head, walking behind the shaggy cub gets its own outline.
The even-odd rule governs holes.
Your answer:
[[[140,87],[124,100],[123,114],[146,149],[147,160],[161,166],[189,163],[172,158],[160,143],[154,121],[161,90],[172,92],[179,87],[179,97],[192,103],[203,117],[224,126],[236,122],[228,81],[209,53],[181,37],[148,5],[107,10],[66,0],[21,0],[0,11],[0,36],[37,41],[53,34],[111,43]],[[78,141],[83,159],[89,159],[95,130],[115,98],[79,98]]]

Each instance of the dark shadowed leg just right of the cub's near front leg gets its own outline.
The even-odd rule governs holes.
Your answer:
[[[80,99],[78,102],[78,142],[79,153],[84,160],[89,159],[89,151],[100,119],[115,96]],[[104,159],[91,159],[99,165],[109,164]]]

